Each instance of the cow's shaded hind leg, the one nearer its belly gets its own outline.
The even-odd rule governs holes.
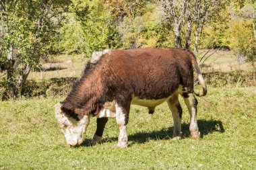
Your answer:
[[[172,118],[174,122],[174,131],[172,139],[181,138],[181,118],[182,118],[182,108],[179,103],[178,95],[173,95],[168,101],[168,106],[172,112]]]

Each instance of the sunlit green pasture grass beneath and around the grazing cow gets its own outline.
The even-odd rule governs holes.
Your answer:
[[[109,120],[101,144],[70,148],[55,120],[61,98],[0,101],[0,169],[255,169],[256,87],[210,88],[199,99],[201,138],[189,137],[189,114],[183,106],[183,138],[172,140],[168,106],[154,115],[133,105],[127,127],[129,147],[119,149],[119,130]]]

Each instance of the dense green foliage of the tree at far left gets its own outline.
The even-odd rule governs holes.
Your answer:
[[[10,46],[15,48],[19,62],[28,62],[31,66],[38,65],[40,59],[45,59],[48,54],[55,54],[54,48],[58,39],[57,28],[60,26],[59,15],[64,9],[59,5],[67,5],[68,1],[54,1],[42,4],[40,1],[18,2],[14,9],[7,6],[3,15],[3,53],[6,58]],[[8,4],[7,4],[8,5]],[[43,16],[40,9],[43,5],[52,5],[51,11],[46,11]],[[50,8],[50,7],[49,7]]]

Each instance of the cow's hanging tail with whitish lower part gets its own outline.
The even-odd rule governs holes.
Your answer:
[[[193,54],[193,52],[191,52],[189,50],[187,50],[187,51],[189,52],[189,54],[191,54],[191,60],[192,60],[192,63],[194,65],[195,71],[197,72],[199,83],[203,87],[203,91],[201,91],[201,93],[199,93],[199,94],[195,93],[195,95],[197,95],[199,97],[204,96],[204,95],[207,94],[207,86],[206,86],[206,83],[203,79],[203,76],[201,75],[201,71],[200,71],[198,63],[197,63],[197,58],[195,57],[195,54]]]

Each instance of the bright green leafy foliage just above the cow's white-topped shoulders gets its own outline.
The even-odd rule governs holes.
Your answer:
[[[110,11],[101,1],[73,1],[71,10],[77,24],[80,24],[78,26],[80,34],[78,36],[82,37],[82,41],[79,41],[82,43],[78,42],[81,44],[79,45],[80,52],[89,57],[96,50],[116,48],[117,27],[114,20],[111,19]],[[73,29],[76,28],[73,27]],[[70,34],[69,32],[65,33]]]

